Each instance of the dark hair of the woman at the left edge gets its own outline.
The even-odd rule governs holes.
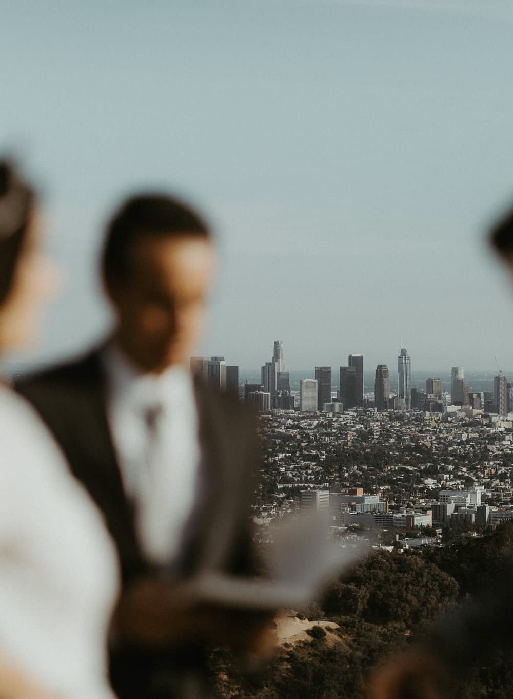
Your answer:
[[[13,284],[35,201],[34,190],[23,182],[15,166],[0,160],[0,304]]]

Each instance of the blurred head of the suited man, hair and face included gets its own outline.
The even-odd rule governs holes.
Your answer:
[[[107,225],[101,269],[119,343],[137,366],[185,363],[198,340],[214,268],[205,221],[165,194],[137,194]]]

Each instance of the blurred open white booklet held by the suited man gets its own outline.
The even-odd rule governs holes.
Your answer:
[[[313,515],[279,527],[270,549],[269,575],[265,579],[204,572],[175,591],[184,605],[254,611],[297,607],[315,598],[330,576],[350,568],[369,550],[369,544],[330,540],[329,520]]]

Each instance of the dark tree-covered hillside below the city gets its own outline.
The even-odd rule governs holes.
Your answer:
[[[421,639],[440,614],[450,624],[461,617],[456,605],[480,600],[493,586],[500,589],[500,581],[509,585],[512,569],[510,525],[438,551],[370,556],[349,576],[334,579],[319,607],[314,607],[315,618],[335,621],[339,629],[326,633],[314,626],[308,641],[285,644],[264,670],[251,676],[241,672],[230,654],[217,650],[211,666],[218,695],[223,699],[363,699],[373,668]],[[505,625],[512,612],[508,605]],[[330,635],[340,642],[329,642]],[[464,667],[460,676],[454,674],[453,699],[509,699],[513,641],[504,640],[501,633],[494,637],[487,628],[485,635],[476,633],[466,642],[479,651],[469,655],[472,667]]]

